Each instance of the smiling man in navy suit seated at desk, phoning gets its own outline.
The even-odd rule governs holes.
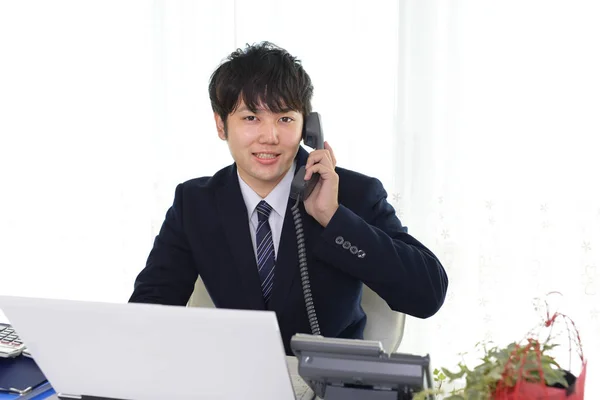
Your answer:
[[[448,278],[406,233],[374,178],[336,167],[333,150],[300,147],[313,87],[271,43],[238,49],[214,72],[210,99],[235,163],[180,184],[131,302],[185,305],[201,276],[217,307],[274,310],[286,352],[310,333],[289,198],[292,178],[319,183],[300,203],[321,334],[361,338],[365,283],[392,309],[420,318],[442,306]]]

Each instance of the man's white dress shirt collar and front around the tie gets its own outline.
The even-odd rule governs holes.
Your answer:
[[[277,260],[277,251],[279,250],[279,241],[281,239],[281,230],[283,229],[283,220],[285,218],[285,212],[287,208],[288,198],[290,197],[290,189],[292,186],[292,180],[294,179],[294,172],[296,171],[296,162],[292,164],[289,171],[285,174],[283,179],[273,188],[271,193],[264,199],[261,198],[240,176],[238,171],[238,180],[240,182],[240,189],[242,190],[242,197],[244,203],[246,203],[246,210],[248,210],[248,220],[250,223],[250,236],[252,237],[252,247],[254,248],[254,256],[256,257],[256,228],[258,227],[258,214],[256,206],[261,200],[266,201],[273,208],[269,215],[269,226],[271,227],[271,234],[273,236],[273,247],[275,248],[275,259]],[[256,260],[258,262],[258,259]]]

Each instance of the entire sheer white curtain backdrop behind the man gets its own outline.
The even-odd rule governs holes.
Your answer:
[[[311,75],[338,164],[380,178],[448,270],[446,304],[409,318],[401,350],[455,365],[477,341],[521,339],[534,299],[559,291],[598,375],[599,14],[592,1],[0,2],[0,293],[126,301],[175,185],[231,162],[210,74],[269,40]]]

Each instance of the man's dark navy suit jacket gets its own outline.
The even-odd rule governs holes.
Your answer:
[[[296,166],[306,164],[307,157],[300,148]],[[393,310],[420,318],[435,314],[448,286],[439,260],[406,232],[377,179],[343,168],[336,172],[340,206],[326,228],[300,204],[321,334],[362,338],[363,282]],[[199,274],[216,307],[275,311],[285,350],[291,354],[291,337],[310,333],[293,204],[290,199],[271,299],[265,306],[235,164],[212,177],[178,185],[129,301],[186,305]]]

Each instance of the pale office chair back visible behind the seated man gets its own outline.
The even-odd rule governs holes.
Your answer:
[[[198,277],[188,307],[214,307],[214,303]],[[377,293],[363,285],[361,306],[367,314],[364,338],[378,340],[388,353],[395,352],[404,335],[405,314],[393,311]],[[318,311],[317,311],[318,312]]]

